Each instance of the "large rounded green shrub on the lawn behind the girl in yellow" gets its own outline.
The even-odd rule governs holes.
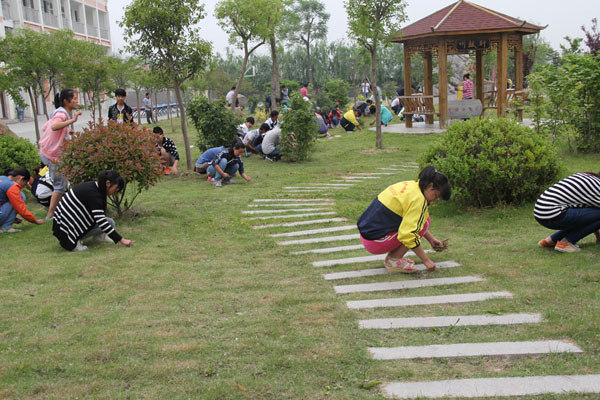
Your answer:
[[[446,174],[453,198],[475,207],[532,201],[560,172],[550,143],[507,118],[452,124],[420,163]]]

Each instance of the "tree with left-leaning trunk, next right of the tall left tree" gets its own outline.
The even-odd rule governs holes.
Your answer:
[[[244,50],[232,107],[235,107],[237,94],[244,80],[248,58],[274,35],[282,8],[281,0],[221,0],[217,3],[215,16],[219,20],[219,26],[229,35],[231,44],[239,43]]]

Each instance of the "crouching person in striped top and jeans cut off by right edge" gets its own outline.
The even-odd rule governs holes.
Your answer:
[[[535,203],[537,222],[558,231],[540,240],[540,247],[573,253],[577,242],[594,233],[600,243],[600,173],[580,172],[550,186]]]

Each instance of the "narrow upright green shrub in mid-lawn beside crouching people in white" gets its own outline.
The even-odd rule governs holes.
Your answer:
[[[290,101],[291,109],[282,113],[281,153],[286,161],[304,161],[310,155],[319,129],[310,101],[304,101],[299,93],[290,96]]]

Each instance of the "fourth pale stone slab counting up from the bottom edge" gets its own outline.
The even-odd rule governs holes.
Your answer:
[[[398,297],[392,299],[355,300],[347,301],[346,306],[348,306],[348,308],[350,309],[358,310],[364,308],[378,307],[408,307],[424,306],[431,304],[470,303],[473,301],[485,301],[496,298],[512,298],[512,294],[509,292],[484,292],[449,294],[445,296]]]

